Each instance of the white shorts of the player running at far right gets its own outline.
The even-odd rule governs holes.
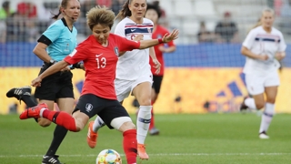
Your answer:
[[[265,92],[265,87],[280,85],[280,78],[276,71],[264,76],[246,74],[246,88],[249,94],[259,95]]]

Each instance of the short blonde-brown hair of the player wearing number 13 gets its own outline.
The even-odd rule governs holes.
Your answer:
[[[96,5],[88,11],[86,19],[87,25],[91,30],[98,24],[109,26],[111,29],[115,21],[115,13],[105,6],[101,7],[100,5]]]

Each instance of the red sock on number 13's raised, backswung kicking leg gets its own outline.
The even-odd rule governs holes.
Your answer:
[[[47,118],[70,131],[76,131],[75,118],[63,111],[44,110],[43,118]]]

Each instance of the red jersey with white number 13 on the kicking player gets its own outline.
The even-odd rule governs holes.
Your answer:
[[[116,99],[114,80],[119,52],[131,51],[139,46],[139,42],[110,34],[108,46],[105,47],[96,41],[95,36],[89,36],[64,60],[70,65],[84,62],[85,82],[81,95],[94,94],[97,97]]]

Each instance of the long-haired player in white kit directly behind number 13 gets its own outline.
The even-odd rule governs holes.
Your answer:
[[[121,22],[115,27],[115,34],[130,40],[152,39],[154,23],[144,18],[145,14],[146,0],[127,0],[123,9],[116,16],[116,18],[121,19]],[[122,103],[130,92],[137,99],[140,105],[136,120],[137,154],[141,159],[148,159],[145,140],[151,122],[151,91],[153,83],[149,56],[151,56],[156,65],[157,73],[160,71],[161,64],[156,59],[154,47],[120,53],[124,55],[119,57],[116,67],[115,92],[117,100]],[[103,125],[103,120],[96,118],[95,123],[91,126],[93,131],[96,132]]]

